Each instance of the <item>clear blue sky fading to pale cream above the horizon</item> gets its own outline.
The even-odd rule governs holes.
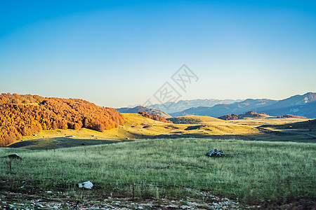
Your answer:
[[[118,108],[165,87],[284,99],[315,79],[315,1],[0,1],[0,92]]]

